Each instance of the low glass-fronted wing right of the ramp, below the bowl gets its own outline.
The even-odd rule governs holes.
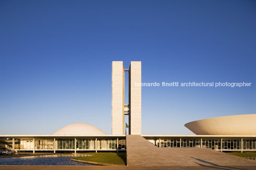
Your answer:
[[[220,151],[256,151],[256,135],[141,135],[161,148],[209,148]]]

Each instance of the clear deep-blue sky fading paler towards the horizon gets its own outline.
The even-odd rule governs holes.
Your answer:
[[[0,134],[111,134],[113,60],[141,61],[142,82],[252,83],[142,87],[142,134],[256,113],[256,1],[0,0]]]

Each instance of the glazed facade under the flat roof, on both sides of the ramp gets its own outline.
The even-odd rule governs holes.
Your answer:
[[[124,138],[124,137],[123,137]],[[145,137],[147,139],[147,137]],[[256,150],[256,139],[147,139],[161,148],[208,148],[212,150]],[[18,150],[126,150],[126,139],[26,139],[19,140]],[[76,146],[76,148],[75,148]]]

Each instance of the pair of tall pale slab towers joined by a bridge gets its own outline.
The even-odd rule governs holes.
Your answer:
[[[129,103],[125,104],[125,71],[129,72]],[[136,86],[136,84],[139,86]],[[125,115],[129,116],[129,134],[141,135],[141,61],[112,61],[112,135],[125,134]]]

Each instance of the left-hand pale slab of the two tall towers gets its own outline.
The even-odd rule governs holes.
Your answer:
[[[125,70],[123,61],[112,62],[112,135],[123,135]]]

